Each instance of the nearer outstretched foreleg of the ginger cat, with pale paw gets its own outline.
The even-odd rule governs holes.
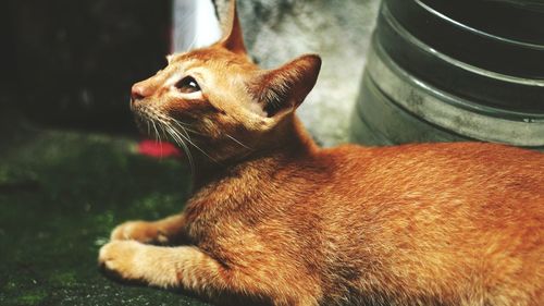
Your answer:
[[[98,260],[124,280],[183,287],[212,299],[222,294],[239,294],[272,301],[273,305],[317,305],[317,295],[305,295],[302,291],[287,293],[289,284],[282,285],[280,280],[263,279],[255,271],[222,265],[196,246],[163,247],[113,241],[100,249]]]

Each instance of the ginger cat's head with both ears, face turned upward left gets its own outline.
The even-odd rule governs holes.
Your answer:
[[[133,86],[131,101],[143,131],[215,161],[289,137],[283,130],[321,66],[316,54],[274,70],[257,66],[246,53],[235,1],[226,28],[211,47],[168,57],[166,68]]]

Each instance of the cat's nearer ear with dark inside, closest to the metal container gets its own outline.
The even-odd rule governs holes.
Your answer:
[[[321,58],[306,54],[279,69],[264,71],[251,88],[255,102],[268,118],[293,112],[316,85],[320,69]]]

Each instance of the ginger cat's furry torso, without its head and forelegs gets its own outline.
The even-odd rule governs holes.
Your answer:
[[[186,208],[197,245],[321,305],[542,301],[542,155],[482,144],[292,154],[197,192]],[[512,156],[535,167],[520,176]]]

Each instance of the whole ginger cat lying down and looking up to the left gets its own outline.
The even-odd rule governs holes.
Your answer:
[[[544,155],[319,148],[294,111],[320,58],[259,69],[234,2],[220,42],[169,62],[132,109],[190,154],[194,194],[119,225],[107,270],[219,305],[544,305]]]

